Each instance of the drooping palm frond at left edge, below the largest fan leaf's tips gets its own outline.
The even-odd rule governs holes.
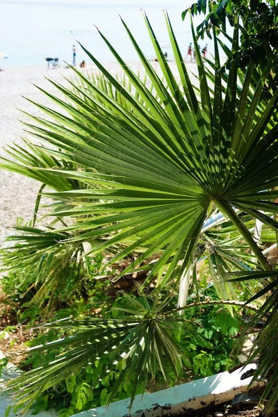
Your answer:
[[[88,275],[83,243],[68,243],[70,235],[54,229],[15,229],[18,234],[8,238],[15,245],[1,253],[6,273],[20,274],[22,293],[31,291],[31,302],[40,308],[69,299],[74,284]]]

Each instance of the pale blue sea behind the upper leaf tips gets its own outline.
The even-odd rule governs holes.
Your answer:
[[[45,58],[57,57],[72,63],[72,47],[76,47],[76,62],[90,61],[77,43],[79,41],[102,62],[115,60],[101,40],[99,30],[126,61],[138,61],[136,51],[120,22],[119,14],[131,29],[147,58],[154,57],[147,28],[140,8],[144,9],[161,43],[171,58],[163,9],[167,8],[172,26],[186,55],[192,41],[190,22],[183,22],[181,13],[193,0],[0,0],[1,67],[44,65]],[[195,19],[195,24],[201,17]],[[95,25],[95,26],[94,26]],[[201,47],[208,42],[201,41]],[[211,47],[212,49],[212,47]]]

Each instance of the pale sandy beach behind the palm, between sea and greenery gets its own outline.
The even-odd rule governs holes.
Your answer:
[[[142,72],[140,63],[130,64],[136,72]],[[153,63],[158,67],[157,63]],[[172,70],[177,74],[174,63],[170,63]],[[120,72],[117,63],[106,63],[106,68],[113,74]],[[196,65],[188,63],[188,70],[196,72]],[[86,70],[97,70],[96,67],[87,67]],[[20,144],[22,137],[26,137],[22,124],[19,119],[24,119],[19,109],[33,115],[40,115],[38,108],[35,108],[24,97],[38,101],[53,108],[54,104],[45,97],[40,90],[35,88],[39,85],[49,92],[55,92],[54,88],[45,76],[60,83],[65,83],[63,76],[73,76],[72,70],[68,68],[49,69],[47,67],[10,67],[0,72],[0,156],[7,156],[4,147],[12,143]],[[56,93],[57,94],[57,93]],[[28,222],[33,218],[36,193],[40,188],[40,183],[22,175],[0,171],[0,247],[7,236],[13,234],[11,227],[15,226],[18,218],[23,218]]]

